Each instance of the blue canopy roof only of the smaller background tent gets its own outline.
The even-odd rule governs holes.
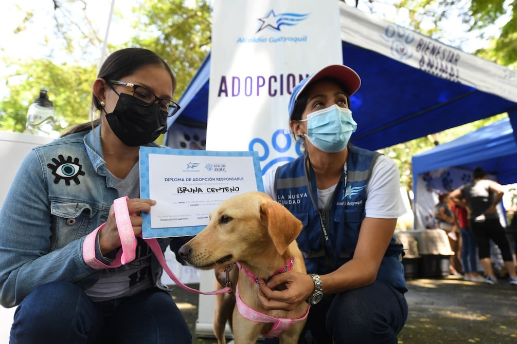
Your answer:
[[[420,173],[451,167],[472,171],[478,166],[495,175],[499,184],[517,183],[517,144],[509,118],[437,145],[412,159],[415,181]]]

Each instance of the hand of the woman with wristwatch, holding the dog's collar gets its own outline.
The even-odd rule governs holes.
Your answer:
[[[259,287],[258,300],[266,309],[293,310],[312,294],[314,281],[308,274],[287,271],[274,275],[267,283],[260,280]]]

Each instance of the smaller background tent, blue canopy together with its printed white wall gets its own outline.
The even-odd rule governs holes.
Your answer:
[[[517,144],[510,122],[505,118],[413,157],[415,228],[426,227],[437,192],[472,180],[478,166],[500,184],[517,183]]]

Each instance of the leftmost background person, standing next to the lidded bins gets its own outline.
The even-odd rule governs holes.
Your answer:
[[[438,194],[438,203],[434,207],[434,218],[438,222],[438,228],[447,233],[451,251],[454,253],[449,259],[449,273],[461,276],[461,239],[457,219],[449,206],[449,193],[444,191]]]

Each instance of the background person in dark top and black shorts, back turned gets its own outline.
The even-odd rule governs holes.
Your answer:
[[[474,169],[473,179],[472,182],[452,191],[450,199],[459,206],[466,204],[470,228],[478,244],[479,261],[486,274],[485,282],[497,283],[490,259],[490,240],[492,240],[501,251],[510,284],[517,285],[517,274],[510,243],[496,209],[497,204],[503,199],[503,186],[491,181],[488,173],[480,167]]]

